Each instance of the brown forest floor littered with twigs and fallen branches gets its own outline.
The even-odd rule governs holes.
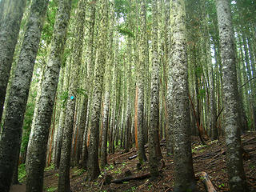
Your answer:
[[[244,148],[243,159],[244,169],[246,171],[246,180],[250,191],[256,191],[256,132],[250,132],[242,135],[242,143]],[[165,143],[162,142],[162,160],[159,162],[160,177],[151,181],[147,178],[149,173],[148,162],[143,164],[138,169],[138,157],[129,159],[136,155],[136,150],[133,148],[130,152],[123,154],[122,150],[116,150],[115,154],[108,157],[109,166],[102,170],[102,175],[94,182],[85,182],[86,171],[78,168],[70,170],[70,186],[72,192],[80,191],[163,191],[168,192],[173,190],[174,185],[174,162],[173,156],[167,157]],[[207,142],[202,145],[198,138],[192,140],[192,152],[194,173],[197,175],[200,172],[206,172],[210,181],[213,183],[217,191],[229,191],[228,181],[226,174],[226,161],[225,161],[225,145],[223,138]],[[146,147],[146,154],[148,149]],[[113,182],[117,178],[126,178],[128,174],[132,176],[141,176],[144,179],[134,179],[129,182],[110,183],[106,184],[107,180]],[[107,176],[106,176],[107,175]],[[110,176],[110,178],[109,178]],[[44,176],[44,191],[57,191],[58,186],[58,170],[46,169]],[[198,191],[206,191],[205,187],[198,178],[197,186]],[[25,186],[12,186],[11,192],[25,191]]]

